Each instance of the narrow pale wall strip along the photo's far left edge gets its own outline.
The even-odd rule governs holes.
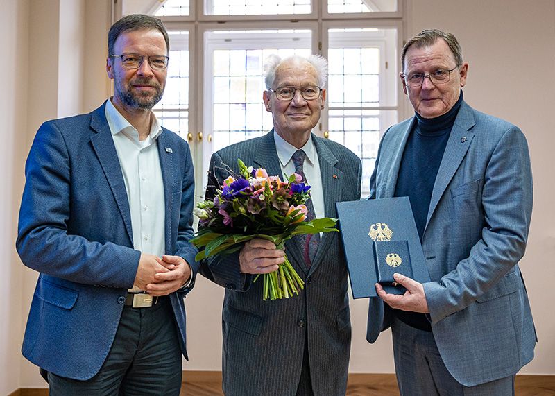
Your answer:
[[[23,186],[20,175],[27,152],[28,7],[26,0],[1,1],[0,290],[3,297],[0,298],[0,395],[7,395],[20,386],[22,318],[26,316],[21,300],[22,267],[15,252],[15,236]]]

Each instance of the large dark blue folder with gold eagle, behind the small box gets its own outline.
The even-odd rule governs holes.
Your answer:
[[[426,259],[408,197],[338,202],[336,208],[353,298],[377,297],[375,284],[379,275],[375,244],[381,241],[407,241],[410,259],[404,262],[411,265],[413,279],[420,283],[429,282]],[[405,254],[404,251],[400,253]],[[393,272],[404,272],[398,269]],[[402,286],[382,286],[392,294],[405,291]]]

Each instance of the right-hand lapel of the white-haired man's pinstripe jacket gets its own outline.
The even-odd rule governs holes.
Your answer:
[[[341,200],[341,189],[343,187],[343,171],[336,168],[338,162],[332,151],[325,145],[325,140],[319,137],[312,137],[318,154],[318,162],[320,162],[320,173],[322,178],[322,189],[324,194],[324,207],[326,217],[335,217],[335,203]],[[326,252],[330,248],[330,243],[334,238],[334,232],[325,232],[322,239],[318,243],[318,251],[314,257],[314,261],[310,267],[310,273],[321,263]]]

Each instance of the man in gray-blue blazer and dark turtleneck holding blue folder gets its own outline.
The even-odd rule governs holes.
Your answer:
[[[389,128],[370,198],[409,196],[431,282],[376,285],[368,341],[391,325],[402,395],[511,395],[536,344],[518,261],[532,212],[524,135],[463,101],[456,38],[422,31],[402,50],[415,116]],[[384,306],[384,303],[387,304]]]

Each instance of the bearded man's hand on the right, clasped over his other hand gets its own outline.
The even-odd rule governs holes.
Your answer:
[[[146,285],[146,292],[150,295],[168,295],[180,289],[191,278],[191,267],[180,256],[163,255],[160,264],[166,268],[171,268],[167,273],[157,273],[154,275],[156,283]]]

